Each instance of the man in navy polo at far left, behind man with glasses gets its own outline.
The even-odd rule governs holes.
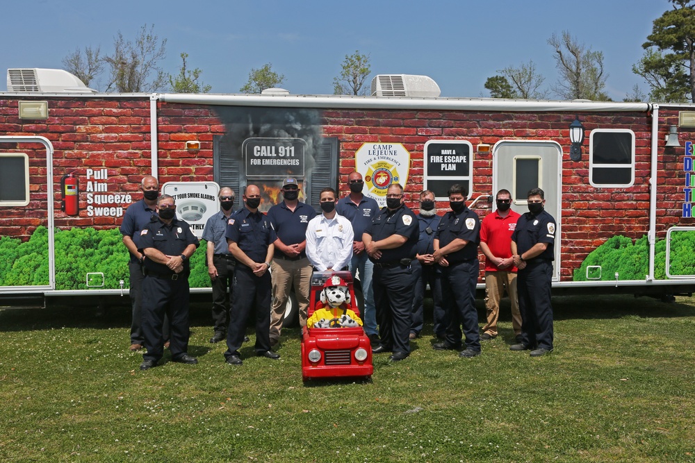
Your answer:
[[[123,244],[130,253],[128,269],[130,285],[128,294],[131,300],[131,351],[139,351],[144,343],[142,336],[142,281],[145,275],[142,273],[142,264],[145,255],[138,250],[140,230],[149,224],[152,216],[156,217],[157,197],[159,196],[159,183],[153,176],[145,176],[140,182],[142,199],[131,204],[123,216],[120,231],[123,235]],[[169,321],[165,317],[165,339],[169,339]]]

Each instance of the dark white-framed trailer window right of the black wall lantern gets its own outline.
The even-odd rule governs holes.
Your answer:
[[[622,188],[635,183],[635,133],[619,128],[591,131],[589,183],[594,187]]]

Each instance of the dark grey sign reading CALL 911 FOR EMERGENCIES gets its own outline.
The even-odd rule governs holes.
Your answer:
[[[254,137],[244,140],[246,175],[282,178],[304,176],[306,142],[301,138]]]

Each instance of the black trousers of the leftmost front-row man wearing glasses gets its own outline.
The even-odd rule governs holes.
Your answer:
[[[188,276],[179,274],[177,280],[145,276],[142,283],[142,334],[147,353],[145,360],[159,360],[164,353],[162,326],[165,314],[171,321],[169,349],[172,358],[188,353]]]

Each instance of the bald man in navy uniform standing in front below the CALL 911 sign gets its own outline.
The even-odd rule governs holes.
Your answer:
[[[280,356],[270,350],[270,260],[275,233],[270,220],[259,211],[261,190],[248,185],[243,194],[245,208],[229,219],[227,243],[237,260],[234,284],[231,289],[231,310],[227,330],[228,364],[243,363],[239,354],[244,342],[246,321],[252,308],[256,309],[256,355],[270,359]]]

